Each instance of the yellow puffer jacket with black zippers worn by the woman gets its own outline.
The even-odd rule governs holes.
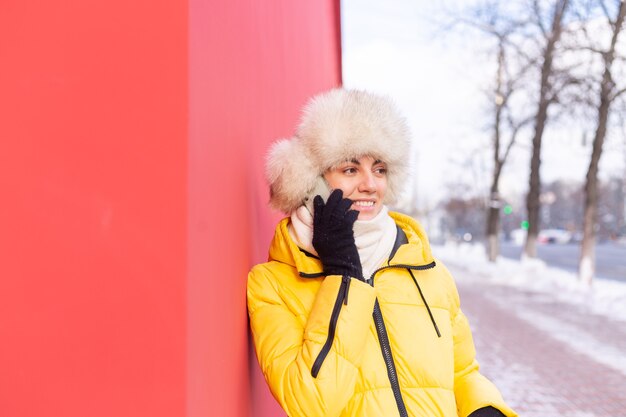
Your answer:
[[[289,237],[289,219],[277,226],[269,262],[248,276],[254,345],[274,397],[292,417],[466,417],[486,406],[515,416],[478,371],[456,286],[421,226],[390,215],[408,243],[397,240],[373,285],[324,277]]]

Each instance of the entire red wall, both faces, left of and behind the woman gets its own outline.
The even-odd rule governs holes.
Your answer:
[[[0,3],[0,415],[275,407],[263,155],[340,50],[336,1],[266,3]]]

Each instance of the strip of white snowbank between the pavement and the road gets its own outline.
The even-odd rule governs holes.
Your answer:
[[[595,279],[589,287],[576,274],[549,267],[538,259],[519,261],[500,257],[490,263],[480,244],[433,246],[433,253],[446,264],[472,272],[468,276],[546,293],[559,301],[584,305],[595,314],[626,322],[626,283]]]

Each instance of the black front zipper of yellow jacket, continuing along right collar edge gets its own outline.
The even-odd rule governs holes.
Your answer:
[[[401,269],[416,269],[416,270],[425,270],[431,269],[435,267],[435,262],[431,262],[428,265],[388,265],[383,266],[375,270],[370,279],[368,280],[369,284],[374,286],[374,276],[384,270],[390,268],[401,268]],[[406,410],[406,405],[404,404],[404,399],[402,398],[402,392],[400,391],[400,383],[398,382],[398,373],[396,371],[396,365],[393,361],[393,354],[391,353],[391,344],[389,343],[389,336],[387,335],[387,328],[385,327],[385,321],[383,320],[383,314],[380,311],[380,305],[378,304],[378,300],[374,303],[374,313],[372,314],[374,317],[374,324],[376,325],[376,333],[378,334],[378,342],[380,343],[380,350],[383,354],[383,360],[385,361],[385,365],[387,366],[387,376],[389,377],[389,383],[391,384],[391,390],[393,391],[393,396],[396,399],[396,404],[398,406],[398,412],[400,413],[400,417],[408,417],[408,412]]]

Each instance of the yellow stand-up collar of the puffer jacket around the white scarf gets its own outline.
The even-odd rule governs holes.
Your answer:
[[[398,234],[387,265],[424,266],[433,262],[428,238],[422,226],[413,218],[389,212],[396,222]],[[324,275],[322,264],[317,257],[307,256],[289,236],[289,218],[282,219],[270,244],[269,260],[294,266],[302,277],[317,278]],[[402,232],[402,233],[400,233]]]

